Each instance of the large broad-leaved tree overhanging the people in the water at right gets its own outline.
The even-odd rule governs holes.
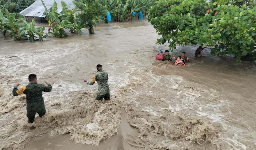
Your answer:
[[[236,55],[255,59],[255,2],[242,0],[159,0],[148,20],[171,50],[176,44],[213,46],[211,54]]]

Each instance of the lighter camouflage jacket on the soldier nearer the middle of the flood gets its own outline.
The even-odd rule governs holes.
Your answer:
[[[95,81],[98,83],[98,94],[104,95],[109,93],[109,85],[108,85],[109,75],[107,72],[99,70],[95,75],[93,75],[93,78],[91,81],[87,82],[88,85],[94,85]]]

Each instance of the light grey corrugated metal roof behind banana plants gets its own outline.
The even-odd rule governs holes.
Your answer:
[[[61,1],[64,1],[69,9],[74,7],[73,0],[55,0],[58,4],[58,13],[62,12]],[[45,6],[49,10],[53,6],[53,0],[44,0]],[[36,0],[33,4],[21,11],[20,14],[27,17],[44,17],[44,6],[41,0]]]

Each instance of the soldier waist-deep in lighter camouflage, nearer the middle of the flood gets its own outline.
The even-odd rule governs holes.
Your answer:
[[[93,75],[93,78],[91,81],[87,82],[86,79],[84,79],[85,82],[87,82],[88,85],[94,85],[95,81],[98,83],[98,93],[96,96],[96,100],[110,100],[110,93],[109,93],[109,85],[108,85],[108,79],[109,75],[107,72],[102,71],[102,65],[97,65],[97,73]]]

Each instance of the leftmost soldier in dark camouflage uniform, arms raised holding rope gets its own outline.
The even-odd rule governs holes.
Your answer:
[[[45,82],[47,86],[37,84],[37,75],[35,74],[30,74],[28,76],[28,80],[29,84],[20,89],[17,88],[19,84],[16,83],[14,85],[12,94],[13,96],[26,94],[28,123],[33,123],[36,113],[38,113],[39,117],[42,117],[45,114],[46,110],[42,92],[51,92],[52,86],[49,82]]]

